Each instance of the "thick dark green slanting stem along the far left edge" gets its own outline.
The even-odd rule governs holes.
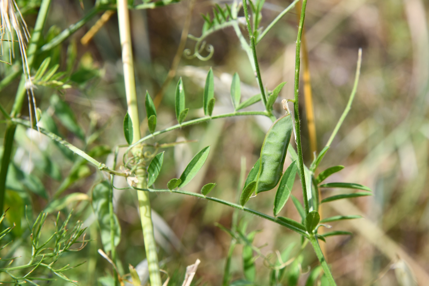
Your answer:
[[[42,0],[39,9],[39,15],[37,16],[36,24],[34,25],[34,31],[31,35],[30,41],[28,43],[27,49],[27,63],[29,69],[33,66],[34,55],[37,50],[37,43],[39,42],[40,36],[42,35],[43,27],[45,26],[46,17],[48,15],[49,6],[51,5],[51,0]],[[10,113],[11,117],[15,117],[18,113],[21,112],[21,107],[25,98],[25,77],[21,77],[21,81],[16,92],[15,101],[12,106],[12,112]],[[9,121],[6,126],[6,133],[4,136],[3,143],[3,158],[1,160],[1,170],[0,170],[0,213],[3,213],[3,204],[4,204],[4,193],[6,190],[6,176],[9,168],[10,157],[12,155],[13,147],[13,137],[15,136],[16,125]]]

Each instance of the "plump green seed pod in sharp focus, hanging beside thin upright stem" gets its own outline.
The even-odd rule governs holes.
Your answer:
[[[292,130],[292,118],[286,114],[277,119],[265,135],[256,179],[256,194],[274,189],[280,181]]]

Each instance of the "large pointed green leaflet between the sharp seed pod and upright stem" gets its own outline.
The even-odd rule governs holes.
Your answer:
[[[274,216],[277,216],[278,213],[280,213],[281,209],[283,209],[289,199],[297,171],[298,167],[296,165],[296,161],[293,161],[281,177],[280,184],[278,185],[277,192],[275,193],[273,209]]]

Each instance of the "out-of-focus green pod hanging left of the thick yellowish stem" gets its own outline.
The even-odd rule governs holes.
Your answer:
[[[112,250],[111,233],[113,231],[113,244],[118,246],[121,239],[121,227],[118,218],[113,213],[113,229],[110,227],[109,200],[112,186],[108,181],[97,184],[92,191],[92,208],[100,226],[101,242],[105,252]]]

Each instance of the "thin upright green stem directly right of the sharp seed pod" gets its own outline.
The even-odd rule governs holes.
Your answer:
[[[298,162],[299,162],[299,178],[301,179],[302,185],[302,197],[304,198],[304,208],[305,213],[308,214],[308,197],[307,197],[307,186],[305,186],[305,176],[304,176],[304,160],[302,158],[302,146],[301,146],[301,130],[299,124],[299,106],[298,106],[298,88],[299,88],[299,64],[300,64],[300,50],[301,50],[301,37],[302,37],[302,28],[304,26],[305,18],[305,6],[307,5],[307,0],[302,0],[302,11],[301,18],[299,19],[298,26],[298,37],[296,39],[296,56],[295,56],[295,86],[294,86],[294,101],[293,101],[293,110],[295,116],[295,132],[296,132],[296,150],[298,153]]]

